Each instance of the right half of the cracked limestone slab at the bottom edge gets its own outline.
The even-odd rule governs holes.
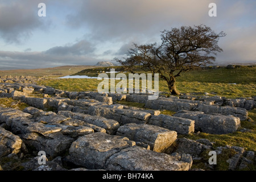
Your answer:
[[[106,169],[113,171],[187,171],[190,163],[176,156],[134,146],[110,156]]]

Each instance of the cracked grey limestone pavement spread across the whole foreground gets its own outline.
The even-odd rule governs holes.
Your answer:
[[[69,165],[74,170],[189,170],[202,152],[222,149],[207,139],[178,135],[232,133],[247,119],[246,110],[255,107],[255,98],[148,100],[148,94],[68,92],[35,85],[31,77],[3,78],[0,97],[29,105],[23,110],[0,105],[0,156],[27,158],[21,166],[39,171],[67,170],[63,166]],[[116,101],[144,103],[147,109]],[[229,149],[236,151],[228,160],[230,170],[254,163],[253,151]],[[40,166],[39,151],[53,160]]]

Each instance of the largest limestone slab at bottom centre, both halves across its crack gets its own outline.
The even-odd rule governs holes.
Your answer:
[[[134,147],[132,147],[134,146]],[[126,137],[94,133],[72,143],[68,160],[85,168],[107,170],[188,170],[188,162],[135,146]]]

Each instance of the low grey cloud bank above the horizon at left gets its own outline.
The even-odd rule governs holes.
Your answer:
[[[0,65],[18,68],[46,68],[60,65],[95,65],[98,61],[93,56],[94,47],[81,40],[71,46],[59,46],[40,52],[0,51]]]

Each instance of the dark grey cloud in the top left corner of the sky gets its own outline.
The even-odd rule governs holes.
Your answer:
[[[42,18],[37,15],[39,2],[39,0],[1,2],[0,36],[5,42],[21,43],[32,35],[33,30],[44,27]]]

